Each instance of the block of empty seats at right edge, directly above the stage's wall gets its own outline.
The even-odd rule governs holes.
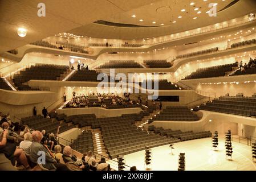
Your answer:
[[[197,110],[209,110],[219,113],[242,115],[246,117],[256,116],[256,94],[253,97],[230,97],[221,96],[220,98],[214,98],[213,101],[209,101],[206,104],[200,105],[193,109]]]

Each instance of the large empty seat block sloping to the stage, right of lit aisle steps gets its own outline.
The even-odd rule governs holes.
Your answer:
[[[123,117],[109,118],[108,121],[100,123],[105,147],[111,158],[144,150],[145,146],[157,147],[178,141],[149,134],[138,129],[133,125],[134,122],[134,119],[123,115]]]

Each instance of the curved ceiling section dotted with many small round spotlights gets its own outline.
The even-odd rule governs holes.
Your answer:
[[[225,22],[235,18],[240,18],[250,13],[256,13],[256,1],[254,0],[240,0],[233,6],[220,11],[217,16],[210,17],[206,14],[209,10],[209,2],[218,3],[217,11],[228,5],[233,0],[174,0],[174,1],[159,1],[153,3],[153,5],[146,5],[138,7],[125,13],[114,14],[112,16],[106,16],[103,20],[115,23],[129,23],[137,24],[141,26],[157,26],[157,27],[114,27],[106,26],[103,24],[91,23],[86,26],[74,28],[69,33],[75,35],[89,36],[93,38],[105,38],[105,39],[143,39],[153,38],[158,36],[170,35],[177,32],[192,30],[194,28],[209,26],[216,23]],[[194,2],[193,6],[189,4]],[[157,13],[157,9],[163,6],[170,6],[170,11]],[[198,7],[199,10],[194,11]],[[200,8],[201,7],[201,8]],[[185,12],[181,12],[181,9],[186,9]],[[197,14],[201,11],[201,14]],[[133,18],[132,15],[136,15]],[[177,18],[178,16],[182,18]],[[197,17],[197,19],[193,19]],[[143,22],[139,22],[139,19],[143,19]],[[172,23],[176,20],[176,23]],[[153,24],[152,22],[156,22]],[[161,26],[164,23],[164,26]]]

